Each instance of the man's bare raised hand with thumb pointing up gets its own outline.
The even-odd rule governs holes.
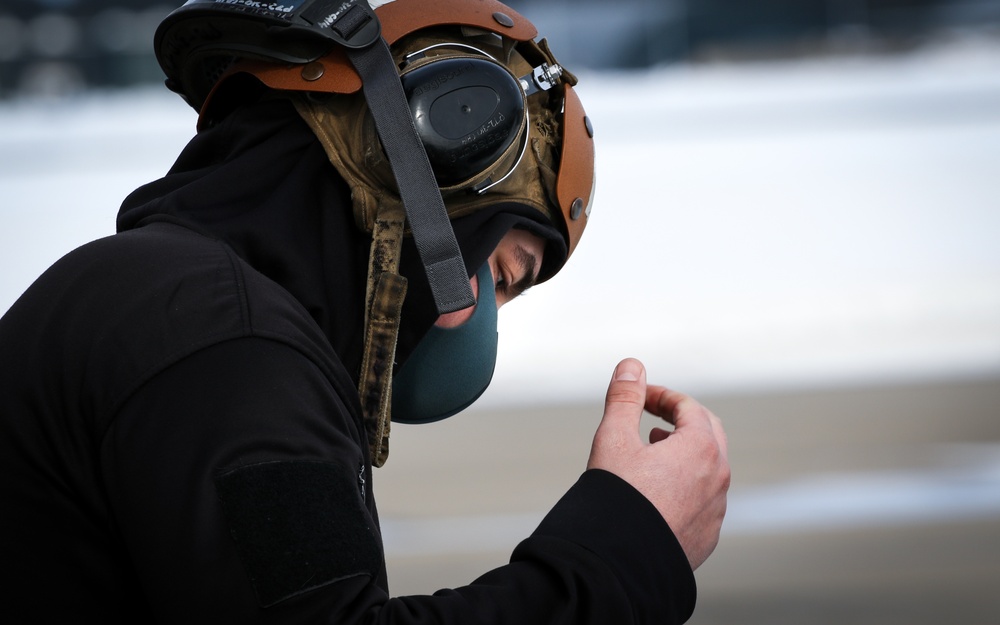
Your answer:
[[[643,409],[674,425],[639,436]],[[646,496],[680,541],[692,569],[719,542],[729,490],[726,435],[719,418],[683,393],[646,386],[642,363],[618,364],[587,468],[614,473]]]

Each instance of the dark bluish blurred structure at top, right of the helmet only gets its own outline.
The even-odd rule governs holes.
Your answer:
[[[509,0],[571,68],[882,53],[974,29],[1000,0]]]

